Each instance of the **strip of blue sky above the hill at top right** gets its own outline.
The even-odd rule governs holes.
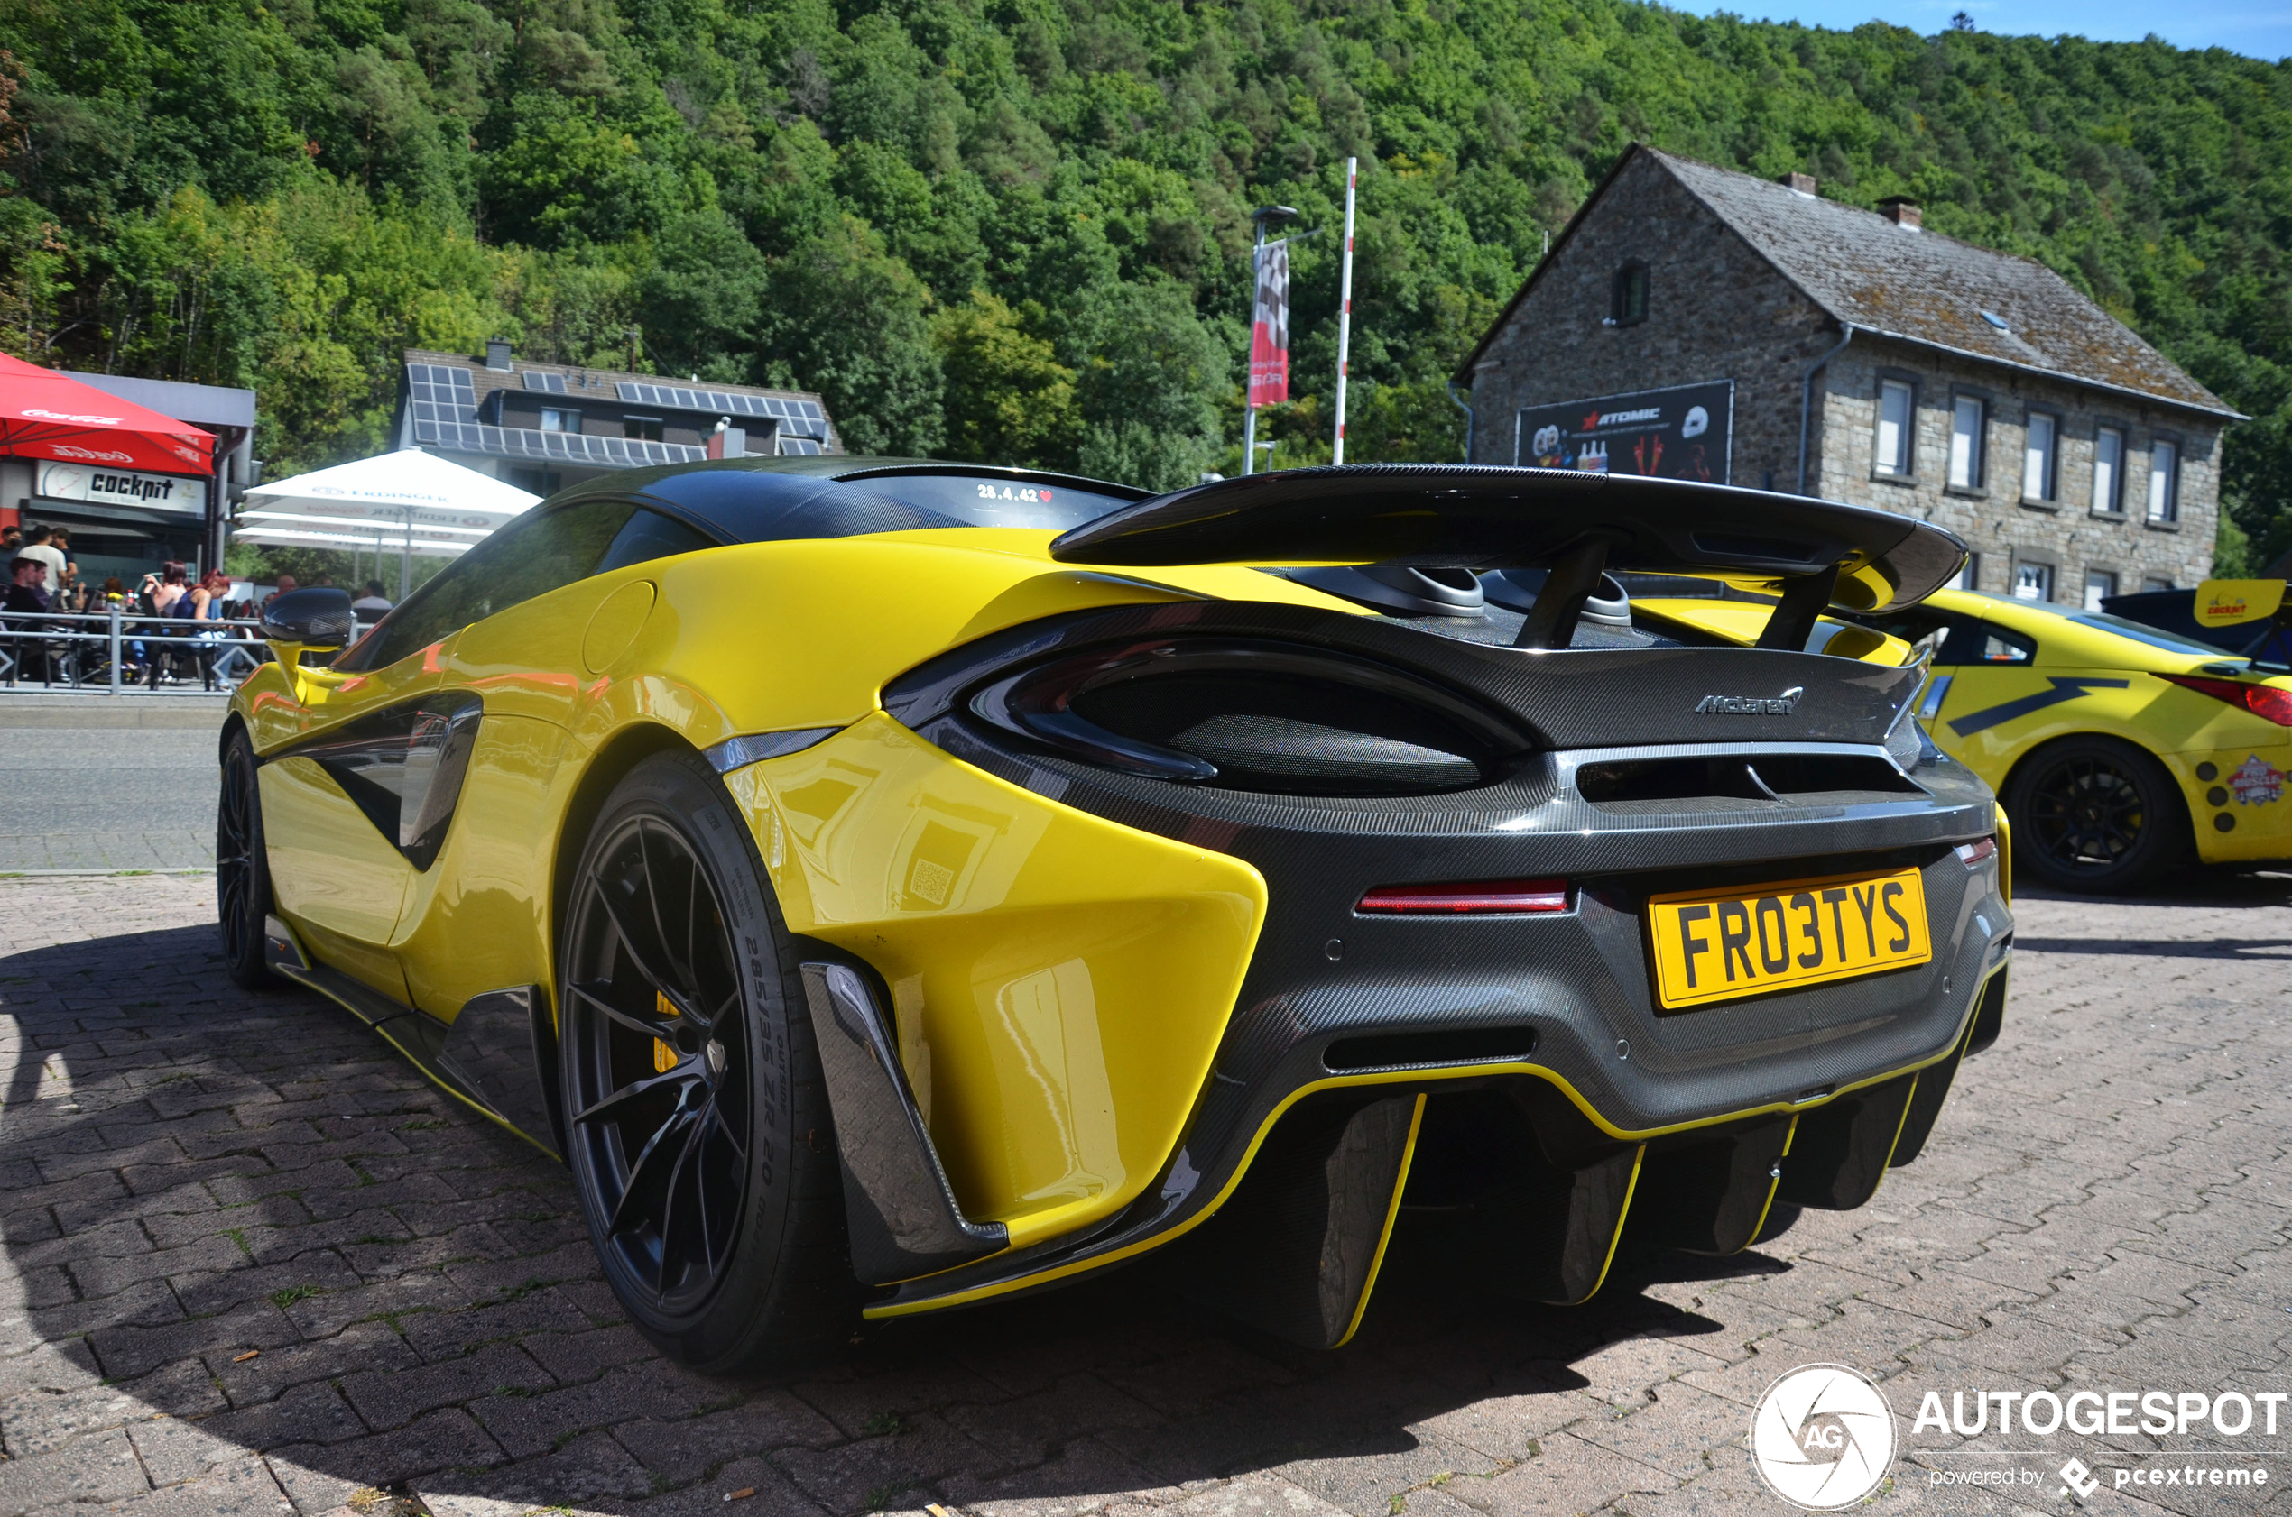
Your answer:
[[[1678,0],[1673,0],[1678,2]],[[1710,16],[1735,11],[1753,21],[1799,21],[1850,30],[1873,16],[1916,32],[1939,32],[1953,11],[1973,16],[1985,32],[2058,37],[2074,32],[2097,41],[2141,41],[2157,32],[2180,48],[2230,48],[2248,57],[2292,55],[2292,0],[1733,0],[1710,5],[1687,0],[1682,9]]]

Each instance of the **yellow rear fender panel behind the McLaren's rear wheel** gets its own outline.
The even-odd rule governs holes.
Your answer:
[[[1176,1150],[1265,921],[1249,864],[1043,800],[876,713],[733,770],[788,928],[869,960],[965,1217],[1027,1247]]]

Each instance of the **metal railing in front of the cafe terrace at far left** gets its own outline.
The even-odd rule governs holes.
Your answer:
[[[80,694],[227,694],[270,660],[252,619],[190,621],[142,612],[7,612],[0,614],[0,687]],[[131,676],[128,660],[140,660]],[[179,683],[160,685],[174,665]],[[190,669],[190,681],[181,671]],[[149,681],[149,683],[147,683]]]

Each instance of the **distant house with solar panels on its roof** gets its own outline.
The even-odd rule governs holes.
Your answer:
[[[486,344],[481,360],[406,351],[399,447],[419,447],[534,495],[605,470],[843,451],[816,394],[529,364],[500,339]]]

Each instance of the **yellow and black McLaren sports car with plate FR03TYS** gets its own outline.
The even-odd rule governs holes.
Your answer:
[[[266,607],[222,944],[559,1155],[706,1370],[1141,1256],[1332,1347],[1412,1196],[1581,1302],[1861,1205],[1999,1036],[1994,797],[1827,619],[1962,557],[1543,470],[617,474],[348,646]],[[1781,598],[1696,646],[1632,573]]]

